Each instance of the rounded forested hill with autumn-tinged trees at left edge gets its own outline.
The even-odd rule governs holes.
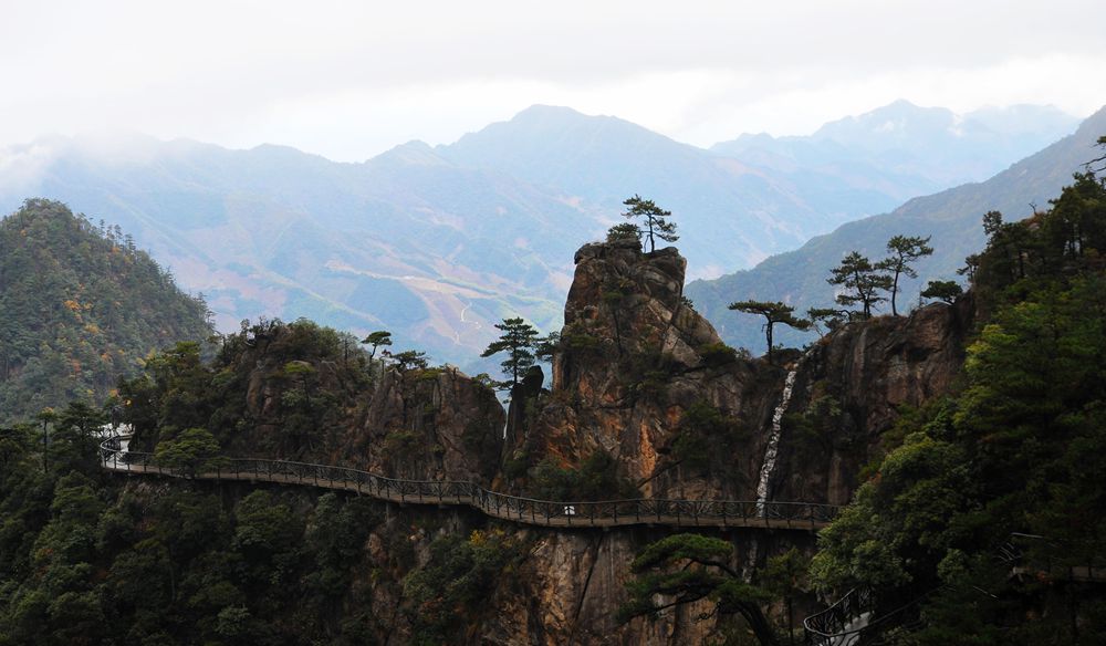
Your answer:
[[[119,229],[29,200],[0,220],[0,423],[98,404],[150,352],[206,340],[206,316]]]

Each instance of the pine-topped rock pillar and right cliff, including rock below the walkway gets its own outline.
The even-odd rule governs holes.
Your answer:
[[[589,244],[580,250],[551,390],[517,394],[508,455],[578,466],[603,449],[644,496],[752,500],[760,489],[771,500],[839,504],[904,407],[940,396],[962,364],[973,321],[970,298],[847,325],[805,354],[783,353],[781,366],[728,355],[710,323],[684,301],[684,269],[675,249],[644,254]],[[778,456],[765,467],[787,382]],[[691,440],[702,442],[706,457],[681,449]],[[657,622],[615,623],[630,561],[660,535],[540,533],[522,566],[525,593],[493,600],[500,612],[484,625],[483,638],[497,644],[720,638],[712,619],[698,619],[707,607],[676,608]],[[739,567],[793,544],[813,546],[811,535],[755,530],[726,535]]]

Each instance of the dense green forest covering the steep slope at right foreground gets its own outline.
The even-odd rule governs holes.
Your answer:
[[[1047,212],[983,226],[961,385],[904,411],[814,583],[914,613],[897,643],[1103,644],[1106,185],[1077,175]]]

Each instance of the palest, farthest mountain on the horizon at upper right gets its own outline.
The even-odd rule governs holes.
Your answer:
[[[1078,119],[1052,106],[1013,105],[956,114],[897,101],[831,122],[813,135],[742,135],[711,152],[787,173],[868,183],[895,204],[981,181],[1061,137]],[[883,210],[883,209],[880,209]]]

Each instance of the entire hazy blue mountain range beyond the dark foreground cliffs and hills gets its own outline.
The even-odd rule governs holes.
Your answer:
[[[0,209],[43,196],[121,226],[206,296],[221,330],[306,316],[358,334],[387,329],[398,345],[471,365],[505,316],[561,324],[574,250],[619,221],[630,195],[674,211],[689,275],[712,278],[904,196],[981,178],[1016,159],[1019,146],[1035,149],[1072,126],[1044,108],[1008,108],[990,122],[931,113],[899,103],[827,124],[808,142],[821,156],[793,155],[791,166],[763,147],[706,150],[549,106],[451,145],[411,142],[361,164],[272,145],[50,137],[2,156]],[[970,136],[951,157],[918,155],[904,169],[878,163],[977,122],[961,127]],[[901,127],[880,148],[885,123]]]

